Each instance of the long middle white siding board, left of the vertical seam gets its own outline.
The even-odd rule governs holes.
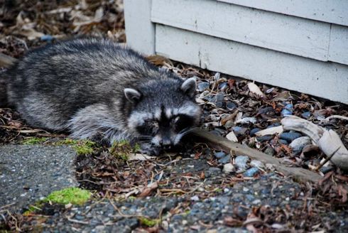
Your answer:
[[[317,60],[327,60],[330,23],[212,0],[153,0],[151,21]]]

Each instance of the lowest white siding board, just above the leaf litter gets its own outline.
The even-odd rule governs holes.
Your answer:
[[[348,104],[348,66],[156,25],[156,53],[209,70]]]

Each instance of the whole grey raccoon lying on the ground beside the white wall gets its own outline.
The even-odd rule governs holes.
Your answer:
[[[26,122],[75,139],[129,140],[156,154],[200,121],[195,78],[183,80],[102,38],[32,50],[8,70],[7,99]]]

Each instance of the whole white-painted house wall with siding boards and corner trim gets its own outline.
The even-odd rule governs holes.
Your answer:
[[[348,104],[348,1],[124,1],[141,53]]]

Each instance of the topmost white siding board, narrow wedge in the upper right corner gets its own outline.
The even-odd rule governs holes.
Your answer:
[[[217,0],[348,26],[347,0]]]

